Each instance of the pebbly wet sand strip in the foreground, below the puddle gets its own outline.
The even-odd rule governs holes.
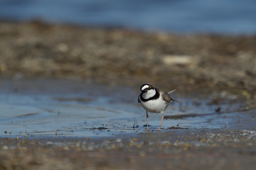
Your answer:
[[[111,138],[0,139],[1,169],[254,169],[255,131],[177,129]]]

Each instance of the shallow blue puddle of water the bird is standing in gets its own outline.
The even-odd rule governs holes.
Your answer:
[[[145,129],[146,116],[137,102],[139,93],[139,88],[107,87],[78,80],[2,79],[0,137],[140,133]],[[171,103],[167,108],[163,128],[225,127],[226,116],[216,114],[217,106],[207,104],[208,100],[182,98],[179,92],[173,96],[180,104]],[[229,106],[230,109],[234,110]],[[149,113],[150,130],[157,130],[160,120],[160,114]],[[96,129],[102,127],[107,129]]]

